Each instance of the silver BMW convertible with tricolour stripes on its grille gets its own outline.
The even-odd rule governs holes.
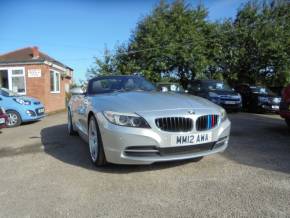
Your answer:
[[[139,76],[103,76],[72,91],[68,131],[89,144],[97,165],[152,164],[224,151],[231,123],[224,109],[187,94],[162,93]]]

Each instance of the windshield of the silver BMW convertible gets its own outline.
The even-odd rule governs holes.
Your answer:
[[[89,86],[91,94],[154,90],[156,88],[152,83],[137,76],[100,77],[93,79]]]

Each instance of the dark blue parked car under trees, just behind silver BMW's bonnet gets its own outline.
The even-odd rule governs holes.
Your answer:
[[[212,101],[227,110],[240,111],[242,99],[227,83],[217,80],[195,80],[188,92]]]

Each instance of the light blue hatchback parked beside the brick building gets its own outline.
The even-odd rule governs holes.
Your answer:
[[[0,88],[0,106],[5,108],[8,115],[7,127],[44,117],[44,106],[39,100],[18,95],[5,88]]]

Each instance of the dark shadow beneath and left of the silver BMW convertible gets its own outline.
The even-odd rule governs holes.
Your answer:
[[[41,142],[44,146],[44,151],[58,160],[105,173],[132,173],[160,170],[198,161],[196,159],[139,166],[108,164],[104,167],[97,168],[89,160],[88,145],[79,136],[69,136],[65,124],[44,128],[41,131]]]

